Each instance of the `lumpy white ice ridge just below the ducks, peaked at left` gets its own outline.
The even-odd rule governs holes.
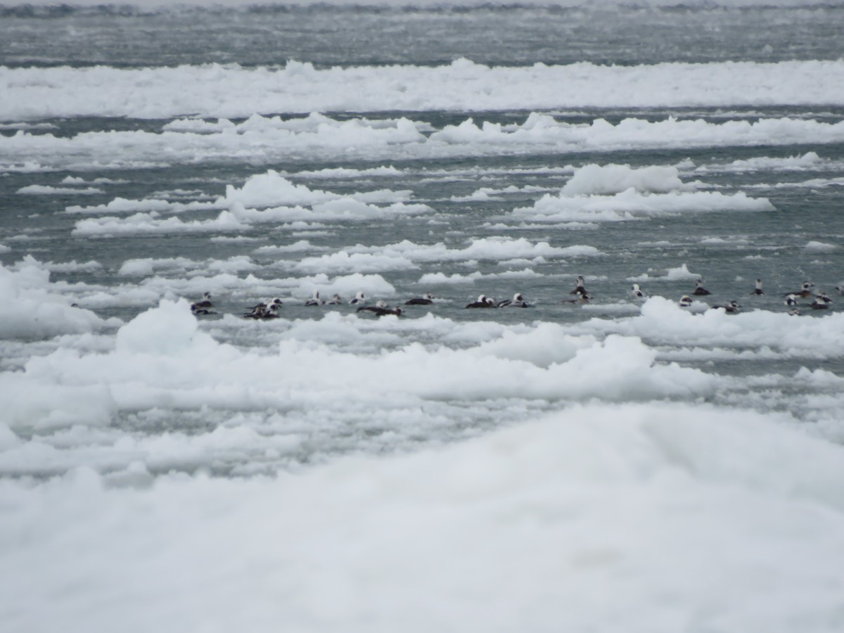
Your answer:
[[[346,288],[354,292],[362,281],[360,276],[347,279]],[[337,286],[314,287],[328,292]],[[349,319],[367,327],[367,321],[354,315]],[[397,326],[405,327],[398,322]],[[118,331],[113,353],[79,356],[60,349],[30,359],[24,375],[15,380],[31,381],[39,391],[51,386],[106,386],[118,410],[198,406],[284,409],[306,403],[320,408],[322,404],[316,403],[330,398],[333,403],[370,410],[376,417],[381,415],[378,403],[382,393],[390,393],[393,401],[406,406],[416,406],[427,399],[638,400],[707,393],[716,384],[715,378],[700,371],[657,364],[655,351],[638,338],[592,338],[587,345],[578,338],[572,355],[567,342],[570,335],[560,327],[522,335],[545,339],[544,346],[529,345],[529,349],[539,350],[539,365],[529,354],[515,360],[511,351],[499,355],[496,349],[500,348],[495,347],[425,349],[419,344],[370,357],[314,348],[306,340],[295,340],[283,342],[276,354],[259,354],[214,343],[207,334],[197,332],[187,301],[174,304],[162,300],[158,308],[143,312]],[[549,349],[559,350],[552,364]],[[18,392],[14,398],[25,401],[26,392]],[[30,412],[23,405],[18,408]],[[37,427],[43,422],[37,415],[8,420],[13,428]]]

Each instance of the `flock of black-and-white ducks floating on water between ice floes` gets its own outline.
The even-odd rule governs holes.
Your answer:
[[[820,291],[818,293],[814,293],[813,291],[814,284],[810,281],[803,282],[803,287],[795,292],[787,292],[785,295],[784,304],[788,308],[788,314],[791,315],[798,315],[800,314],[800,306],[805,306],[805,302],[801,303],[801,300],[808,300],[811,299],[811,303],[809,303],[809,308],[812,310],[826,310],[830,307],[832,300],[830,299],[830,295],[827,293]],[[840,295],[844,295],[844,284],[836,286],[836,290]],[[577,277],[576,287],[575,289],[571,290],[569,293],[572,295],[571,299],[565,299],[560,301],[560,303],[574,303],[574,304],[585,304],[589,303],[592,300],[592,295],[586,289],[586,279],[582,276]],[[762,280],[756,279],[755,281],[755,288],[750,293],[751,295],[764,295],[765,292],[762,289]],[[701,297],[711,295],[711,292],[707,290],[703,285],[703,280],[698,279],[695,282],[695,289],[691,291],[690,295],[683,295],[680,297],[678,301],[678,305],[680,307],[690,307],[694,302],[694,297]],[[647,295],[642,291],[639,284],[633,284],[632,289],[630,289],[630,296],[634,300],[643,300],[647,298]],[[305,306],[331,306],[331,305],[340,305],[344,304],[345,301],[340,297],[340,295],[333,295],[331,299],[324,300],[320,297],[319,290],[314,290],[313,295],[311,295],[311,299],[306,300],[304,305]],[[430,304],[434,303],[434,295],[430,293],[426,293],[421,297],[415,297],[414,299],[410,299],[404,302],[405,306],[430,306]],[[357,305],[358,312],[371,312],[376,315],[376,317],[386,317],[387,315],[393,315],[395,317],[400,317],[404,311],[401,307],[391,307],[387,304],[384,300],[377,300],[374,305],[368,306],[366,297],[363,291],[359,291],[352,299],[349,300],[350,305]],[[278,297],[273,299],[266,299],[262,300],[257,303],[255,306],[249,306],[246,308],[247,312],[245,312],[242,316],[246,319],[258,319],[258,320],[267,320],[267,319],[276,319],[279,318],[279,309],[282,306],[282,300]],[[467,308],[527,308],[531,307],[531,304],[528,304],[525,300],[524,296],[521,292],[517,292],[513,295],[512,299],[507,299],[503,301],[496,301],[490,296],[487,295],[480,295],[478,299],[474,300],[472,303],[469,303],[466,307]],[[191,311],[195,315],[210,315],[210,314],[217,314],[212,308],[214,304],[211,301],[211,294],[206,292],[203,294],[203,298],[201,300],[195,301],[191,304]],[[715,310],[724,310],[727,311],[729,314],[734,314],[741,310],[741,305],[738,301],[730,301],[729,303],[723,306],[709,306],[710,309]]]

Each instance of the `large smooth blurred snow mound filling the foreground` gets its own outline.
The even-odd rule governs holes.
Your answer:
[[[152,483],[136,464],[117,488],[89,468],[7,479],[0,617],[91,633],[834,633],[844,461],[790,423],[592,404],[274,478]]]

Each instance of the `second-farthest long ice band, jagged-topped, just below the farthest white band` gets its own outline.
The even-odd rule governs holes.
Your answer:
[[[182,89],[179,91],[183,92]],[[508,87],[506,91],[509,94],[511,89]],[[337,94],[336,87],[332,87],[332,94]],[[247,106],[251,108],[252,102],[248,102]],[[517,109],[523,107],[527,106],[520,105]],[[219,163],[230,160],[232,155],[255,165],[267,165],[300,161],[303,156],[314,161],[333,161],[338,155],[343,155],[347,160],[387,162],[525,152],[582,154],[627,151],[630,148],[753,147],[844,141],[844,122],[791,118],[760,117],[752,122],[707,122],[668,116],[661,121],[627,118],[617,123],[603,119],[595,119],[591,123],[571,123],[562,117],[558,121],[554,116],[533,112],[521,123],[468,119],[425,134],[417,128],[428,124],[410,120],[354,118],[296,127],[295,122],[301,119],[275,122],[276,118],[279,117],[259,117],[254,126],[242,133],[104,131],[79,133],[71,138],[51,133],[0,135],[0,156],[3,157],[0,169],[129,169],[193,162]],[[344,138],[338,132],[338,126],[353,124],[354,138]],[[284,176],[279,174],[278,177]],[[265,185],[268,183],[260,187],[259,183],[255,183],[248,187],[252,192],[247,190],[232,194],[235,197],[254,194],[256,202],[264,203],[263,194],[275,196],[264,188]],[[318,194],[318,191],[297,192],[295,187],[287,189],[289,195],[312,198]],[[399,193],[394,192],[393,197]]]

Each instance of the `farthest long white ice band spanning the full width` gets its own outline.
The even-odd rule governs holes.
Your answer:
[[[219,90],[219,85],[228,89]],[[184,112],[234,118],[279,112],[826,106],[844,103],[844,62],[488,67],[459,59],[435,67],[320,69],[290,61],[284,68],[0,68],[0,92],[8,97],[0,105],[0,119],[6,121],[62,116],[164,119]],[[250,127],[182,121],[176,129],[236,137]],[[332,133],[338,143],[349,146],[360,140],[355,122],[333,124]],[[387,143],[418,139],[419,132],[413,125],[399,124],[383,136]]]

